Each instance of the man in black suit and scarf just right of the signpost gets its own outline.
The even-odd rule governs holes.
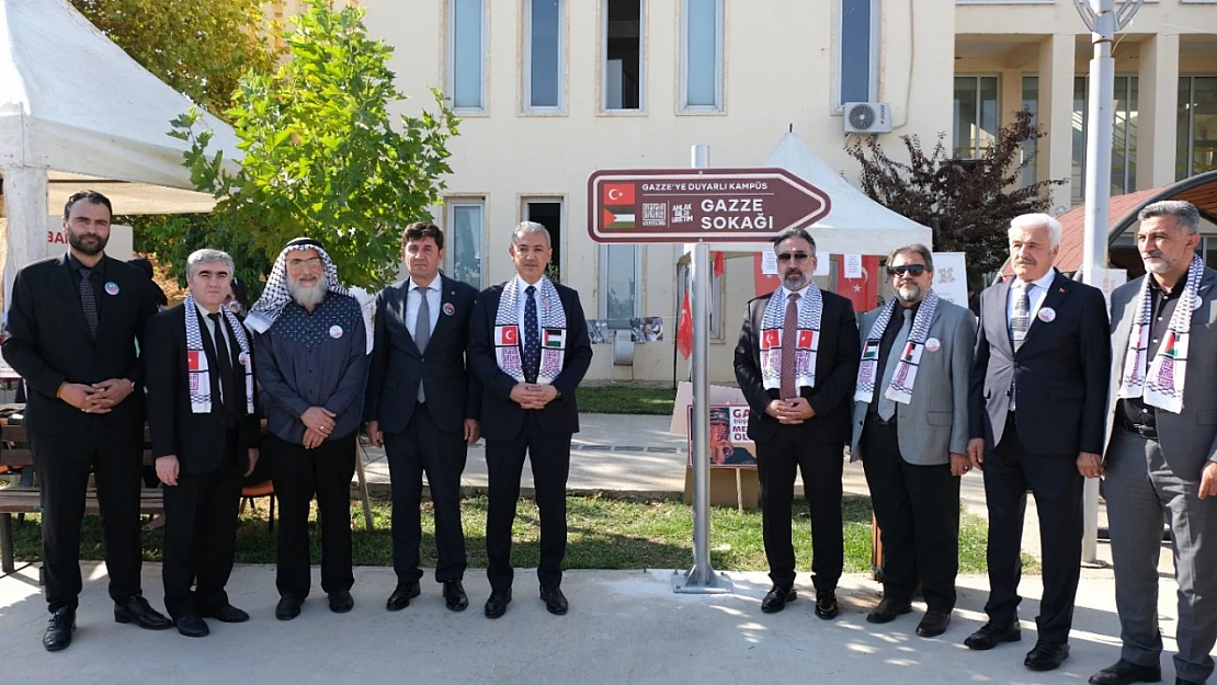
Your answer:
[[[790,507],[795,470],[812,510],[815,616],[840,608],[845,565],[841,470],[858,376],[858,324],[848,299],[812,282],[815,241],[802,229],[774,240],[781,287],[748,302],[735,347],[735,378],[748,402],[748,437],[757,445],[764,550],[773,588],[761,611],[795,600]]]

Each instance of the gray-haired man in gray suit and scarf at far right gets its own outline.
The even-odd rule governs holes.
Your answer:
[[[1162,678],[1157,563],[1165,520],[1179,586],[1176,683],[1200,684],[1213,672],[1217,641],[1217,271],[1195,252],[1200,213],[1191,203],[1155,202],[1137,218],[1146,274],[1111,293],[1116,364],[1104,442],[1123,647],[1090,683]]]

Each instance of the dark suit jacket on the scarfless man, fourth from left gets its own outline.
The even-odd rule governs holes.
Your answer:
[[[381,431],[399,433],[417,405],[425,381],[427,406],[441,431],[460,432],[464,420],[482,416],[482,383],[465,367],[469,321],[477,291],[441,275],[439,319],[422,354],[405,320],[410,281],[392,285],[376,297],[376,331],[364,419],[380,421]]]

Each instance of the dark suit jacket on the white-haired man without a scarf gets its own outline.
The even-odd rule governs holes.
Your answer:
[[[1028,451],[1103,454],[1111,374],[1111,339],[1103,291],[1056,274],[1017,354],[1006,305],[1013,279],[981,293],[976,359],[969,392],[971,438],[988,449],[1002,442],[1015,381],[1019,439]],[[1048,429],[1050,428],[1050,429]]]

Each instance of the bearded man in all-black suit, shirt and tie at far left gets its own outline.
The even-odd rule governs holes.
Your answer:
[[[72,644],[90,471],[114,621],[170,627],[140,589],[144,369],[135,350],[156,302],[139,269],[106,257],[111,213],[99,192],[68,198],[63,230],[71,248],[17,273],[4,341],[5,359],[29,388],[26,429],[43,496],[49,651]]]

